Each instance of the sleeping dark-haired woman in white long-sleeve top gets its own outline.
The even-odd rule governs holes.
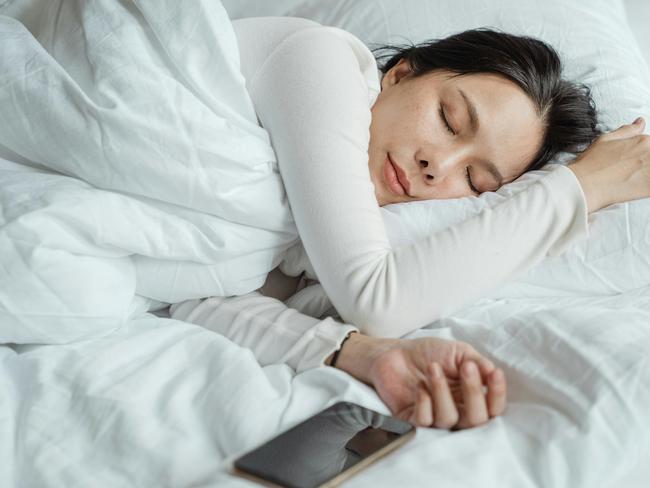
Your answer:
[[[378,73],[339,29],[291,18],[234,26],[300,242],[259,291],[178,303],[172,317],[261,364],[345,370],[416,425],[500,415],[506,379],[487,357],[402,336],[586,238],[590,212],[650,196],[644,121],[599,134],[589,89],[563,80],[555,51],[531,38],[466,31],[388,49]],[[380,206],[495,191],[559,151],[580,154],[459,225],[388,242]]]

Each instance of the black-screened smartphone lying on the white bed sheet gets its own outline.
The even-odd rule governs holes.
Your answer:
[[[337,486],[414,434],[401,419],[339,402],[237,458],[233,472],[265,486]]]

